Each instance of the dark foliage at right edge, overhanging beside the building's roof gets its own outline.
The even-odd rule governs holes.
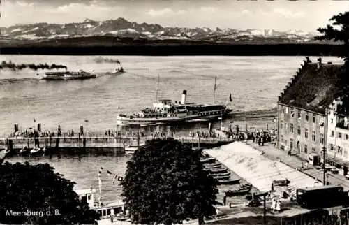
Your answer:
[[[342,48],[336,52],[338,57],[344,59],[341,80],[337,85],[342,89],[343,107],[341,108],[341,113],[349,113],[349,12],[339,13],[339,15],[334,15],[329,20],[332,22],[332,25],[328,24],[325,28],[319,28],[318,31],[322,35],[315,38],[343,43]]]

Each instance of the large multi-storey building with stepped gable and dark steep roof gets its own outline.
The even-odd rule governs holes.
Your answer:
[[[341,65],[304,61],[278,101],[278,147],[308,158],[324,147],[325,111],[339,94]]]

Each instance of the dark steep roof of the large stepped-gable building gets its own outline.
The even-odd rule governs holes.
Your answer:
[[[338,64],[305,63],[283,89],[279,103],[325,114],[325,107],[340,96]]]

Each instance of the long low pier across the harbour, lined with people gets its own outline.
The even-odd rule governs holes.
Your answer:
[[[10,138],[0,138],[0,148],[10,150],[20,150],[27,146],[32,147],[49,147],[55,149],[61,148],[103,148],[118,149],[124,146],[138,146],[144,144],[147,140],[153,138],[168,138],[154,136],[105,136],[105,135],[87,135],[87,136],[48,136],[48,137],[24,137],[15,136]],[[174,136],[169,137],[192,145],[192,147],[217,147],[231,143],[231,138],[212,138],[212,137],[191,137],[191,136]]]

